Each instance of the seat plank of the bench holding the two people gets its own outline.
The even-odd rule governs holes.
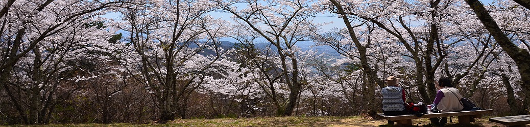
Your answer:
[[[421,119],[421,118],[440,118],[440,117],[449,117],[449,116],[464,116],[464,115],[470,115],[470,116],[477,116],[481,114],[491,114],[493,113],[493,110],[477,110],[477,111],[460,111],[460,112],[444,112],[444,113],[430,113],[425,114],[421,117],[418,117],[416,115],[394,115],[394,116],[386,116],[383,113],[377,114],[379,118],[390,120],[390,121],[397,121],[397,120],[411,120],[411,119]]]

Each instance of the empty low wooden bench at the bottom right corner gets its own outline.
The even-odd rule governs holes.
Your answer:
[[[530,115],[515,115],[490,118],[490,122],[496,122],[507,126],[526,126],[530,123]]]

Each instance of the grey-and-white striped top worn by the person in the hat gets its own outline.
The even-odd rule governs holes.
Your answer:
[[[383,94],[383,111],[399,112],[405,110],[405,90],[401,87],[386,86],[381,90]]]

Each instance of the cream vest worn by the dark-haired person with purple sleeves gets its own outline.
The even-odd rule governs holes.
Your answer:
[[[436,105],[436,109],[440,110],[440,112],[456,112],[464,109],[464,106],[460,103],[462,95],[460,95],[458,89],[454,87],[444,87],[440,91],[444,93],[444,97],[441,98],[441,101]]]

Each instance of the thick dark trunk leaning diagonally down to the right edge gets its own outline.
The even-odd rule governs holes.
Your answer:
[[[502,47],[502,49],[515,61],[521,80],[523,83],[523,91],[525,93],[525,102],[523,108],[528,111],[528,101],[530,101],[530,54],[527,50],[517,47],[511,40],[501,31],[497,22],[493,20],[482,3],[477,0],[465,0],[467,4],[475,12],[485,28],[493,35],[493,38]],[[526,113],[525,113],[526,114]]]

